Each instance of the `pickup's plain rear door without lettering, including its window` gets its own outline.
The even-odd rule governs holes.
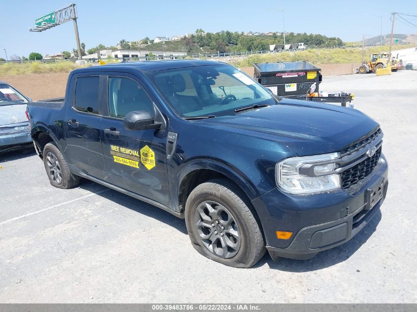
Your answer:
[[[73,77],[75,89],[69,101],[64,120],[66,155],[77,169],[101,180],[108,180],[101,143],[103,115],[103,80],[106,76],[86,75]]]

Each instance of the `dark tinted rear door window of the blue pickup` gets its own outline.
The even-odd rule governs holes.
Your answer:
[[[100,77],[76,78],[75,107],[76,110],[98,114]]]

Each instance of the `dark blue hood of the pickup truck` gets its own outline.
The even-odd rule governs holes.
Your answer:
[[[211,128],[226,127],[242,135],[278,141],[299,156],[340,151],[379,127],[356,109],[289,99],[234,116],[201,121]]]

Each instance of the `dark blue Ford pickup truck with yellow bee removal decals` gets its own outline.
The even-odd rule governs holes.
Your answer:
[[[386,195],[378,123],[276,97],[223,63],[76,69],[65,99],[28,105],[53,186],[83,177],[185,218],[195,249],[228,266],[345,243]]]

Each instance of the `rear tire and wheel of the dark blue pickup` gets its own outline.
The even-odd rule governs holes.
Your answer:
[[[42,155],[43,165],[52,186],[69,189],[79,184],[79,177],[70,172],[67,162],[54,142],[45,145]]]

